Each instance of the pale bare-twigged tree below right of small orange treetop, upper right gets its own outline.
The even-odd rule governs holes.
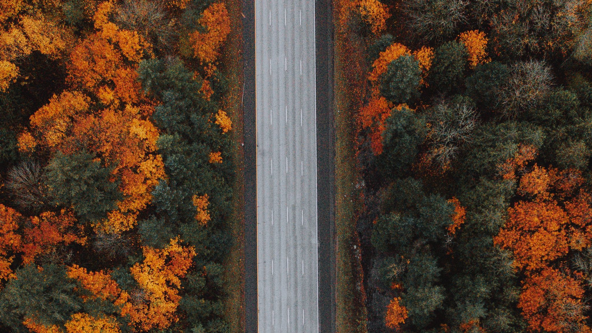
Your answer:
[[[507,84],[500,89],[503,113],[508,117],[536,107],[551,90],[553,75],[544,62],[530,60],[512,66]]]

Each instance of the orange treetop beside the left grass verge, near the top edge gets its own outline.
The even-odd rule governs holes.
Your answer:
[[[218,49],[230,33],[230,17],[223,2],[211,4],[202,13],[199,23],[207,28],[207,33],[195,31],[189,34],[194,56],[203,63],[213,63],[217,59]]]

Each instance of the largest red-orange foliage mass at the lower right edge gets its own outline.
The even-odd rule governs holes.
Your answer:
[[[534,157],[533,149],[520,150],[509,164],[524,167]],[[513,179],[514,171],[510,173],[507,178]],[[494,238],[494,244],[513,251],[514,266],[525,270],[518,306],[532,331],[563,333],[570,327],[590,331],[584,325],[581,281],[567,270],[552,268],[570,249],[579,251],[592,244],[591,196],[584,190],[573,194],[582,182],[577,171],[535,164],[520,178],[517,190],[530,200],[509,208],[508,221]],[[562,198],[568,200],[558,200]]]

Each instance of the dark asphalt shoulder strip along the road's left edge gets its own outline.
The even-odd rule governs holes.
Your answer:
[[[257,141],[255,117],[255,0],[243,0],[244,331],[257,333]]]

